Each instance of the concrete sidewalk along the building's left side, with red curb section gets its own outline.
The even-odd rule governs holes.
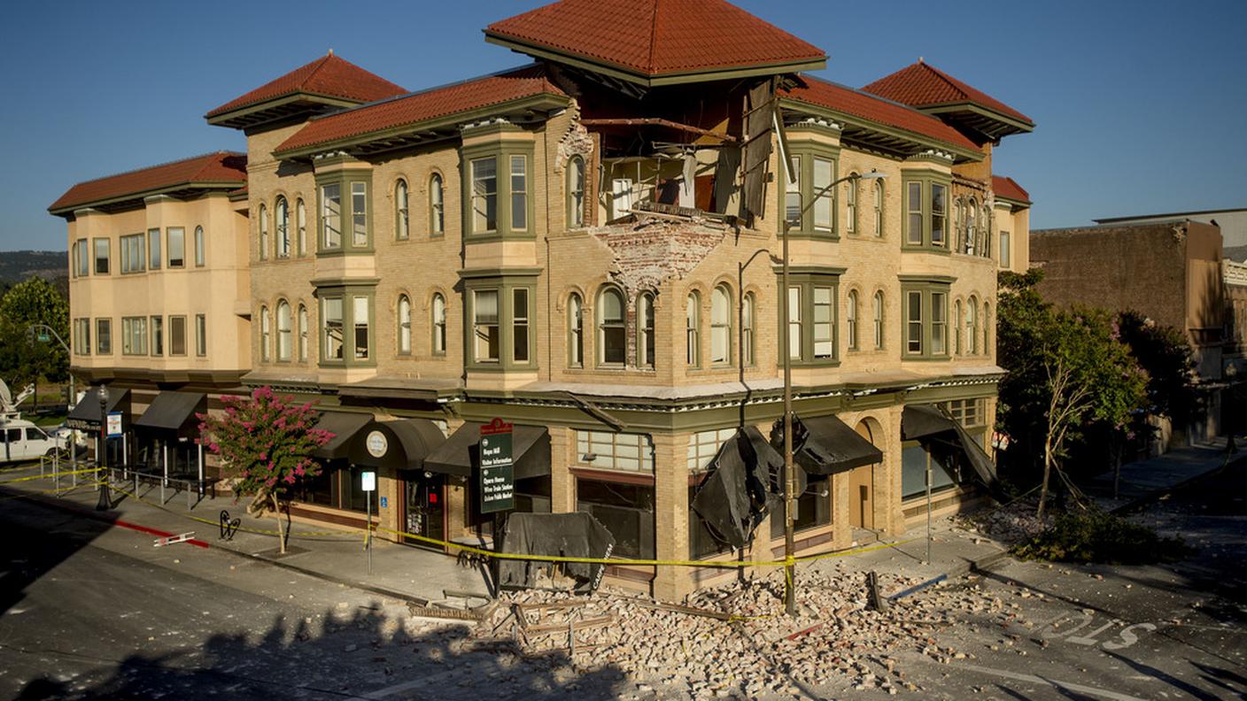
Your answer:
[[[0,473],[0,499],[6,498],[5,493],[25,493],[30,495],[27,501],[74,510],[85,518],[99,516],[99,513],[95,511],[99,493],[90,484],[84,485],[81,481],[81,476],[90,475],[80,475],[77,489],[61,496],[51,493],[54,489],[51,479],[5,483],[5,480],[29,475],[39,475],[37,464],[32,464],[29,470]],[[67,488],[69,485],[69,478],[61,478],[61,486]],[[133,485],[125,485],[123,489],[132,491]],[[112,493],[113,509],[107,511],[108,520],[115,518],[173,535],[195,531],[195,540],[206,543],[209,549],[263,560],[327,581],[420,605],[445,599],[444,590],[489,592],[484,575],[479,569],[461,568],[451,555],[398,545],[375,538],[375,534],[373,570],[369,574],[364,533],[360,530],[294,521],[291,524],[292,535],[287,546],[289,551],[286,555],[279,555],[276,535],[277,521],[248,516],[246,499],[236,503],[232,496],[216,499],[206,496],[193,509],[187,510],[186,494],[175,495],[172,490],[168,490],[168,503],[161,508],[158,505],[158,485],[142,485],[138,496],[140,499],[135,499],[128,494],[117,493],[115,489]],[[238,529],[232,540],[221,539],[218,524],[222,510],[229,511],[231,520],[238,518],[242,521],[242,528]],[[145,535],[142,538],[152,536]],[[181,545],[171,546],[181,548]]]

